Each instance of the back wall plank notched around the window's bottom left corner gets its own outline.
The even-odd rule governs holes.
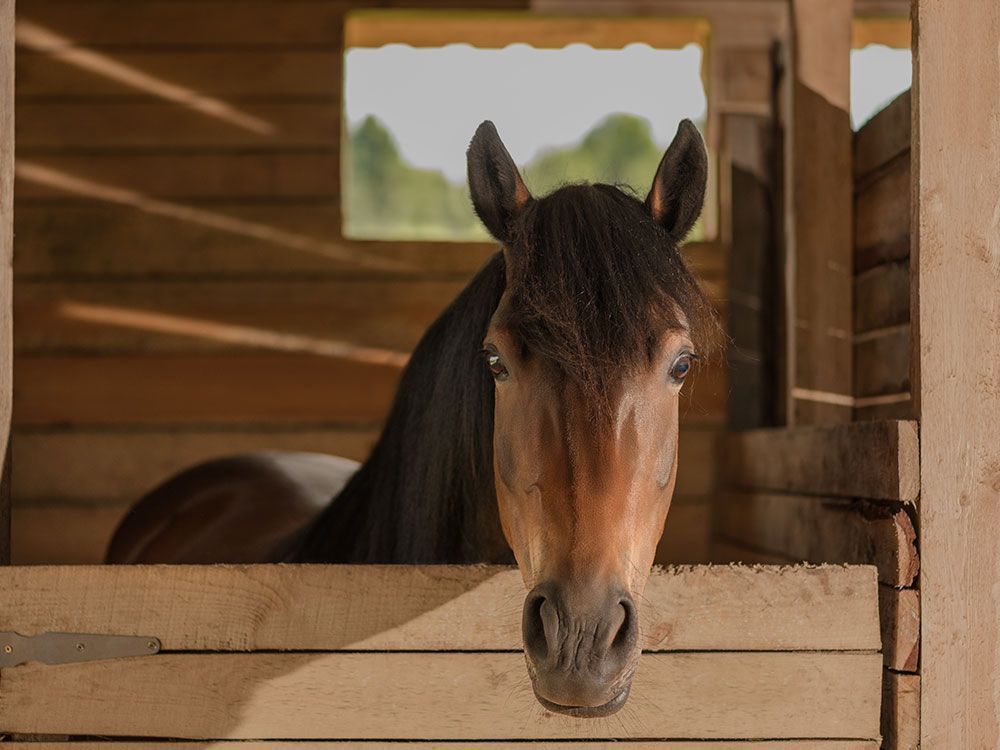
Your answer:
[[[21,204],[15,217],[15,271],[19,276],[274,279],[358,268],[378,272],[367,261],[383,259],[411,273],[465,277],[496,252],[493,243],[344,240],[335,203],[213,204],[199,207],[205,221],[192,220],[185,206],[177,208],[173,213],[151,213],[142,204],[120,201],[58,207]],[[137,253],[136,247],[142,252]],[[703,254],[698,248],[693,253]]]

